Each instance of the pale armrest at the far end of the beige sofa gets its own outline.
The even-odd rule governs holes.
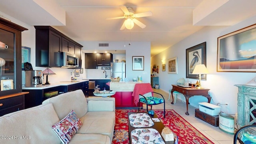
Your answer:
[[[115,111],[115,98],[86,98],[88,111]]]

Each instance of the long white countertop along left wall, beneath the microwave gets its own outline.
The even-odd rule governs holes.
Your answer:
[[[68,85],[72,85],[72,84],[78,84],[80,82],[86,82],[89,81],[88,79],[86,80],[78,80],[77,82],[56,82],[56,83],[51,83],[51,84],[47,84],[44,86],[38,86],[38,87],[22,87],[22,90],[42,90],[42,89],[46,89],[46,88],[53,88],[56,86],[68,86]]]

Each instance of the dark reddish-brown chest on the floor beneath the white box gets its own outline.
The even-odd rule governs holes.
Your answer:
[[[195,110],[195,116],[196,118],[199,118],[213,126],[219,126],[219,116],[211,116],[209,114],[201,112],[199,108]]]

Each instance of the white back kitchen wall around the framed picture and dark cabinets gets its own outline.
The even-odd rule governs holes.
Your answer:
[[[126,58],[126,78],[130,81],[132,78],[137,78],[137,76],[142,76],[142,81],[150,83],[150,42],[131,42],[131,45],[126,44],[125,42],[79,42],[84,46],[84,50],[97,50],[100,49],[98,47],[99,43],[108,43],[108,47],[104,47],[104,50],[126,50],[126,54],[124,55],[113,55],[113,59],[121,59],[123,57]],[[122,57],[121,57],[122,56]],[[132,70],[132,56],[144,56],[144,70]],[[107,74],[110,76],[110,70],[106,70]],[[91,73],[96,73],[99,76],[103,75],[103,70],[99,67],[98,70],[88,69],[86,70],[88,73],[87,76],[90,78]],[[90,74],[89,74],[90,73]]]

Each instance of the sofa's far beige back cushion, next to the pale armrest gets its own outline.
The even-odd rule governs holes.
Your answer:
[[[43,101],[43,104],[46,103],[53,104],[54,110],[58,114],[60,120],[65,118],[71,110],[76,112],[78,118],[84,116],[88,111],[87,100],[82,90],[66,92],[64,94],[48,98]]]

